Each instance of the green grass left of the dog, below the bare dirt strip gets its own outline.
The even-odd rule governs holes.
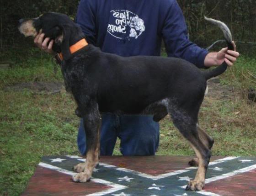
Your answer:
[[[13,196],[24,190],[44,154],[78,153],[78,119],[65,93],[1,92],[0,99],[0,192]]]

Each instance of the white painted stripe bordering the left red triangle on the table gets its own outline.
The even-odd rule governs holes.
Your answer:
[[[46,164],[46,163],[43,163],[43,162],[40,162],[38,165],[41,166],[41,167],[44,167],[44,168],[48,168],[50,170],[55,170],[55,171],[67,174],[67,175],[72,175],[73,176],[73,175],[77,174],[73,171],[64,170],[64,169],[61,169],[59,167],[53,166],[51,164]],[[122,189],[128,188],[127,186],[118,185],[116,183],[109,182],[107,180],[101,180],[101,179],[93,178],[93,177],[91,178],[91,181],[96,182],[96,183],[100,183],[100,184],[104,184],[104,185],[107,185],[107,186],[112,186],[113,188],[110,188],[106,191],[100,191],[100,192],[97,192],[97,193],[92,193],[92,194],[89,194],[87,196],[103,196],[103,195],[106,195],[106,194],[110,194],[112,192],[116,192],[116,191],[120,191]]]

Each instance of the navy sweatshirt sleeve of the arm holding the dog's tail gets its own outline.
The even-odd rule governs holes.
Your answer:
[[[169,1],[170,3],[170,1]],[[183,58],[198,68],[206,68],[204,59],[208,51],[189,41],[183,13],[176,2],[171,2],[166,11],[162,36],[169,57]]]

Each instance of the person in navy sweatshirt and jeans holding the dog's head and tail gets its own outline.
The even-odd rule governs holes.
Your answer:
[[[238,52],[227,48],[208,53],[190,42],[176,0],[81,0],[76,23],[87,42],[103,52],[124,57],[160,56],[162,39],[168,57],[186,59],[198,68],[218,66],[223,61],[232,66],[239,57]],[[44,34],[38,34],[34,42],[47,53],[53,53],[53,40],[44,38]],[[159,145],[159,123],[148,115],[102,114],[101,155],[112,155],[117,137],[123,155],[154,155]],[[85,155],[83,119],[77,144]]]

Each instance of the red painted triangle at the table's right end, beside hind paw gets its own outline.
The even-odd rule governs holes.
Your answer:
[[[204,191],[221,196],[256,196],[256,170],[206,184]]]

